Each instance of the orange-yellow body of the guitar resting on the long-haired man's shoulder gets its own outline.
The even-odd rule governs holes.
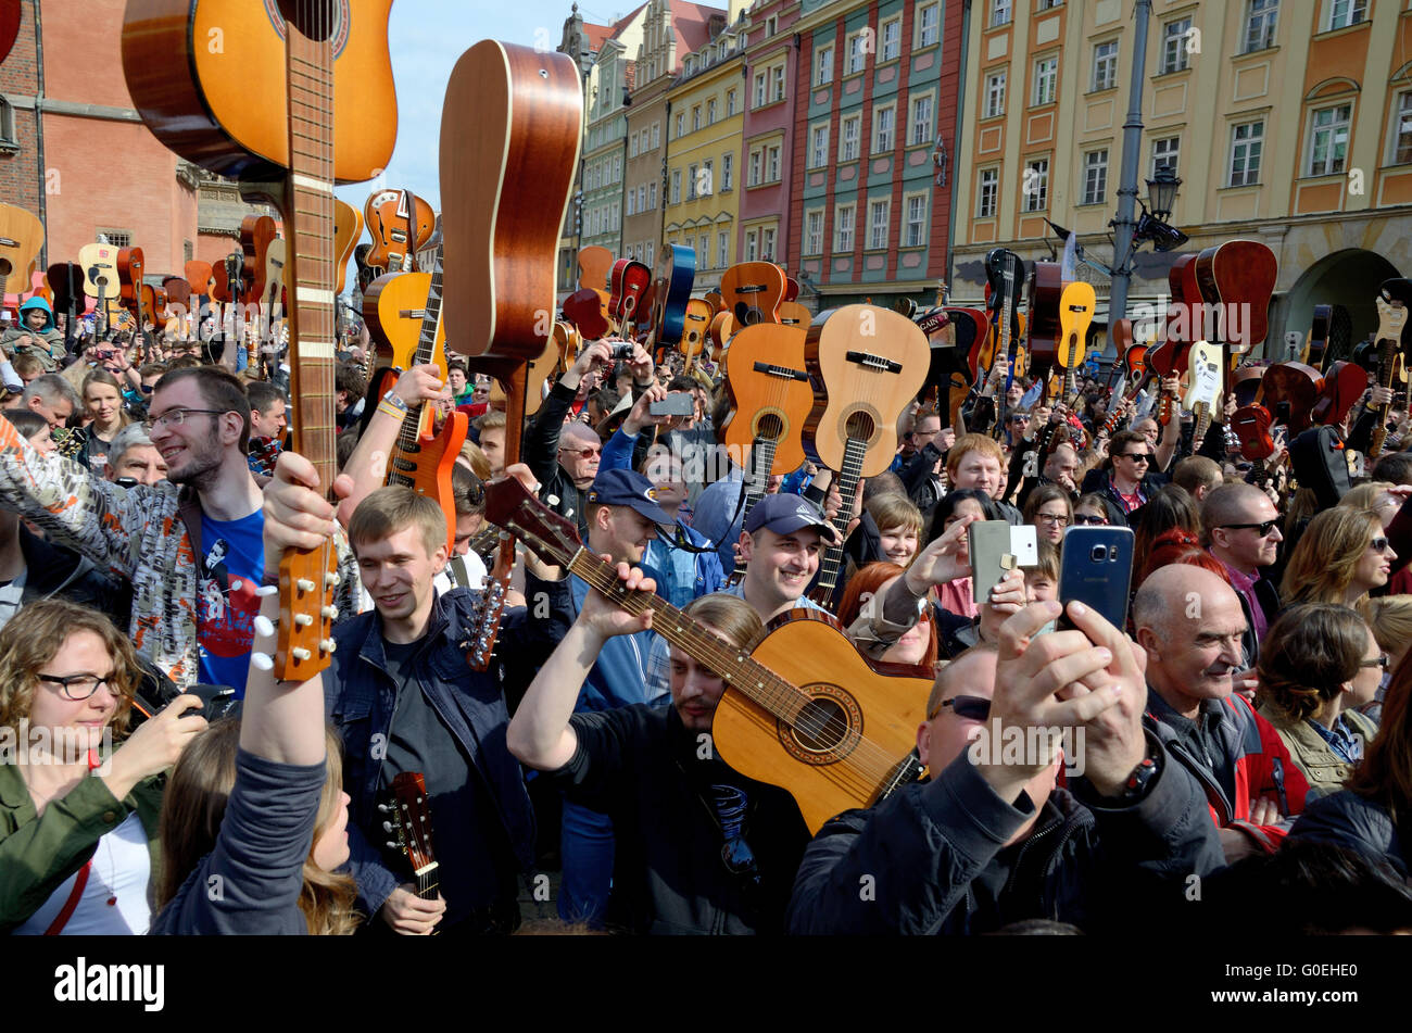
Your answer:
[[[808,735],[808,721],[791,727],[727,686],[712,724],[720,758],[746,778],[788,789],[812,833],[881,797],[881,765],[901,763],[916,745],[932,679],[878,675],[827,615],[809,610],[786,614],[751,656],[799,686],[812,700],[806,713],[829,721],[833,734]],[[870,744],[857,742],[863,731]]]

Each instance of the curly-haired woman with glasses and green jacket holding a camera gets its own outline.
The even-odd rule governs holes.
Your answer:
[[[0,931],[147,933],[158,775],[206,721],[179,696],[127,735],[137,672],[127,636],[73,603],[0,631]]]

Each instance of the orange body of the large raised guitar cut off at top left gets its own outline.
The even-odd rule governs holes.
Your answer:
[[[333,182],[371,179],[397,141],[387,49],[393,0],[337,0]],[[244,181],[289,165],[289,90],[277,0],[130,0],[123,75],[133,106],[167,147]],[[216,45],[219,41],[219,45]]]

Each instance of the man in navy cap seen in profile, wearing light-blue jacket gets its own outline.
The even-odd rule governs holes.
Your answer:
[[[642,552],[657,538],[658,525],[671,526],[675,522],[657,504],[652,483],[635,470],[602,470],[585,495],[585,521],[589,550],[628,566],[641,566]],[[655,572],[647,573],[655,577]],[[572,577],[570,591],[578,617],[589,594],[589,583]],[[669,689],[665,684],[650,687],[647,680],[647,658],[654,638],[651,631],[641,631],[609,639],[583,683],[575,713],[613,710],[634,703],[666,706]],[[563,858],[559,916],[565,922],[602,923],[613,882],[611,818],[565,800],[559,851]]]

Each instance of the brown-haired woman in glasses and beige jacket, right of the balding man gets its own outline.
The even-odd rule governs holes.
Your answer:
[[[1377,735],[1378,725],[1354,708],[1372,701],[1387,663],[1363,618],[1332,603],[1285,610],[1265,636],[1257,713],[1315,795],[1339,792]]]

